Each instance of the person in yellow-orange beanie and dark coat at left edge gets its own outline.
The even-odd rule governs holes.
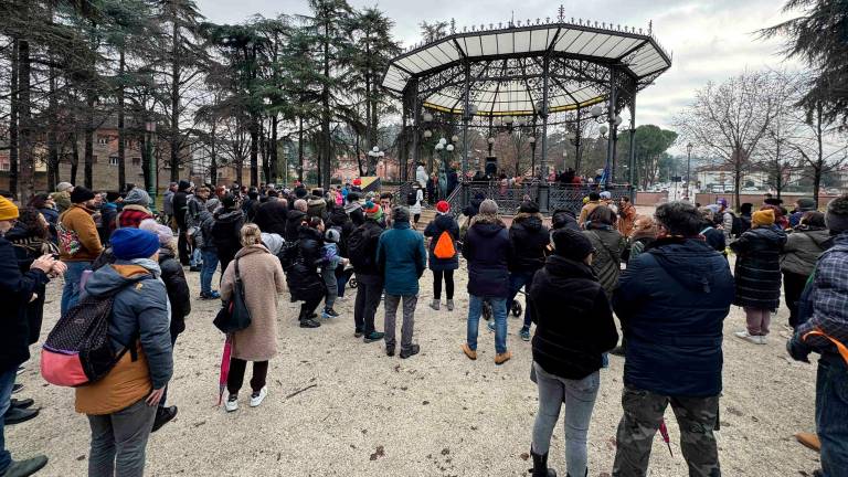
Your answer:
[[[0,416],[4,416],[12,405],[18,367],[30,359],[32,329],[29,306],[33,296],[43,294],[41,290],[50,282],[47,274],[65,271],[63,263],[47,254],[39,254],[25,272],[19,268],[21,263],[15,250],[6,239],[18,218],[18,208],[0,197],[0,300],[3,303],[3,310],[0,311]],[[4,423],[6,420],[0,418],[0,475],[29,476],[43,468],[47,464],[44,455],[25,460],[12,459],[6,448]]]

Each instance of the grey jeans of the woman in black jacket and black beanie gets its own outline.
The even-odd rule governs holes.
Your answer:
[[[533,452],[548,454],[551,435],[565,404],[565,465],[570,476],[586,473],[589,456],[586,437],[595,407],[597,390],[601,388],[601,372],[595,371],[582,380],[568,380],[547,371],[533,362],[536,383],[539,386],[539,414],[533,424]]]

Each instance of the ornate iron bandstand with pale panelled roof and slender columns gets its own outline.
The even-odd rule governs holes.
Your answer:
[[[549,126],[576,124],[572,144],[579,157],[580,123],[604,123],[600,129],[603,135],[608,131],[608,146],[603,186],[610,189],[616,183],[619,114],[629,109],[633,139],[637,93],[670,66],[671,57],[650,26],[643,32],[566,20],[561,7],[553,20],[489,23],[463,31],[452,22],[446,36],[413,45],[392,59],[382,86],[402,98],[404,130],[412,126],[407,140],[415,163],[421,162],[421,140],[432,136],[434,114],[448,115],[462,125],[463,173],[468,170],[469,127],[532,130],[533,163],[538,134],[539,182],[547,186]],[[458,142],[459,138],[453,139]],[[630,140],[628,183],[633,183],[633,161]],[[407,169],[401,163],[402,171]]]

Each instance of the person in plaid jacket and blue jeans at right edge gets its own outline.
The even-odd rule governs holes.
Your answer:
[[[824,477],[848,469],[848,194],[827,204],[833,246],[822,254],[798,307],[798,326],[786,343],[793,359],[817,352],[816,432]]]

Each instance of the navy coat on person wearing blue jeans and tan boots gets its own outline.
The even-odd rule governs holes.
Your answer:
[[[463,256],[468,261],[468,293],[486,298],[509,296],[511,253],[504,222],[492,215],[477,214],[463,243]]]

